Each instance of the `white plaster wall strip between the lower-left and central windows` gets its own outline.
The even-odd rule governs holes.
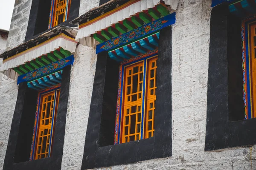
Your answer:
[[[61,170],[81,169],[96,61],[93,48],[83,45],[76,48],[75,62],[70,76]]]

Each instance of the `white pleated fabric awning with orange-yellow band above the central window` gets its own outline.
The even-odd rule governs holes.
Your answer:
[[[120,21],[123,21],[139,12],[145,11],[149,8],[153,8],[160,3],[161,0],[131,0],[128,3],[115,8],[103,14],[100,17],[96,17],[87,23],[79,26],[78,34],[76,35],[76,41],[82,45],[94,46],[95,40],[90,37],[91,34],[101,31],[105,28],[112,26]],[[166,5],[169,5],[171,9],[176,10],[179,0],[163,0]]]

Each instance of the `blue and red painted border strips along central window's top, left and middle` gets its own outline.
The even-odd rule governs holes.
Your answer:
[[[143,130],[143,122],[144,122],[144,106],[145,106],[145,84],[146,84],[146,67],[145,65],[147,65],[147,59],[151,58],[151,57],[155,57],[155,56],[158,56],[158,53],[155,53],[155,54],[151,54],[151,55],[148,55],[146,57],[143,57],[141,59],[137,59],[137,60],[134,60],[134,61],[131,61],[131,62],[128,62],[128,63],[125,63],[122,65],[122,81],[121,81],[121,94],[120,94],[120,105],[119,105],[119,122],[118,122],[118,137],[117,137],[117,144],[120,143],[120,137],[121,137],[121,134],[120,134],[120,130],[121,130],[121,124],[122,124],[122,94],[123,94],[123,80],[124,80],[124,68],[125,66],[127,65],[131,65],[131,64],[134,64],[134,63],[137,63],[137,62],[141,62],[141,61],[144,61],[144,73],[143,74],[143,103],[142,103],[142,110],[141,110],[141,131],[140,133],[142,133],[140,135],[140,138],[143,139],[143,133],[144,133],[144,130]]]

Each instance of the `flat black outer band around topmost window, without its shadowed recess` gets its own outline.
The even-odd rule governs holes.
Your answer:
[[[37,24],[37,17],[38,17],[37,15],[38,15],[39,3],[40,3],[40,0],[33,0],[32,1],[32,6],[31,6],[30,14],[29,14],[29,23],[28,23],[28,27],[27,27],[27,31],[26,31],[25,42],[29,41],[29,40],[32,40],[32,39],[35,39],[39,35],[41,35],[45,32],[48,32],[48,31],[50,31],[53,28],[58,27],[58,26],[77,27],[74,24],[70,24],[70,21],[79,17],[80,0],[71,0],[70,11],[69,11],[69,16],[68,16],[67,21],[59,24],[58,26],[47,29],[47,30],[45,30],[41,33],[34,34],[35,33],[35,27],[36,27],[36,24]],[[48,14],[48,19],[49,19],[49,14]]]

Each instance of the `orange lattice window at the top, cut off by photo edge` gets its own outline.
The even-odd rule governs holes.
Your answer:
[[[71,0],[52,0],[48,29],[68,19],[70,3]]]

